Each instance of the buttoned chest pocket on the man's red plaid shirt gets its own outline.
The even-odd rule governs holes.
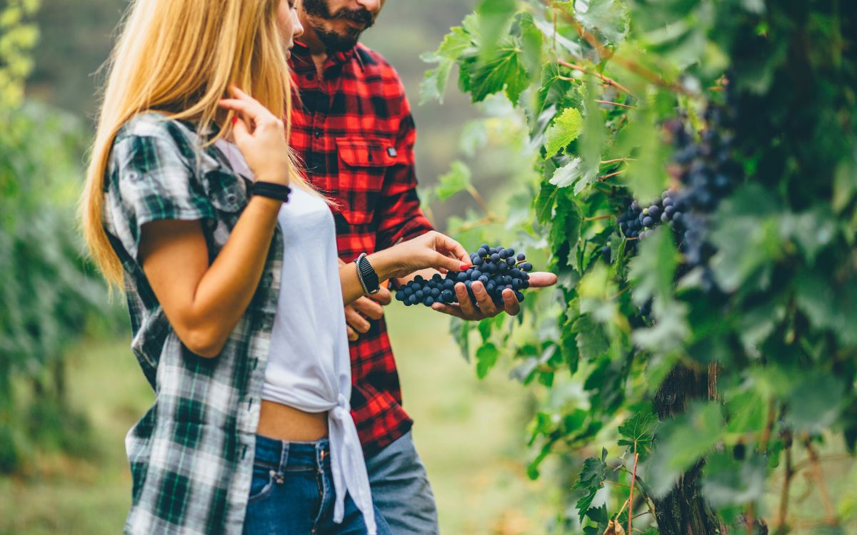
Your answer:
[[[389,140],[350,136],[336,139],[339,152],[339,211],[352,225],[372,221],[387,169],[397,161]]]

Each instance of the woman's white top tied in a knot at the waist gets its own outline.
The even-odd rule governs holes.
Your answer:
[[[236,146],[223,140],[215,145],[232,169],[253,177]],[[349,404],[351,357],[333,214],[323,200],[292,187],[277,219],[285,246],[283,276],[262,399],[307,413],[327,412],[336,490],[333,520],[342,522],[347,492],[375,535],[369,476]]]

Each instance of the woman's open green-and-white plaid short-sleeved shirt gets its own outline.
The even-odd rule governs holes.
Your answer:
[[[210,261],[248,201],[247,180],[190,127],[147,113],[117,134],[105,180],[105,228],[122,260],[131,348],[155,391],[125,445],[133,478],[126,533],[242,532],[260,395],[280,285],[275,231],[261,283],[217,358],[184,348],[138,260],[141,226],[202,220]]]

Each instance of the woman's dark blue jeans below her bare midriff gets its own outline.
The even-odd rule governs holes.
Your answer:
[[[311,443],[256,436],[245,535],[366,535],[363,513],[345,496],[345,519],[333,522],[333,476],[327,438]],[[375,509],[378,535],[392,535]]]

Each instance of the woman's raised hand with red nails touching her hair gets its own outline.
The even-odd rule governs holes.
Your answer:
[[[288,186],[291,161],[283,121],[237,87],[229,92],[233,98],[222,98],[220,107],[237,113],[232,134],[256,180]]]

